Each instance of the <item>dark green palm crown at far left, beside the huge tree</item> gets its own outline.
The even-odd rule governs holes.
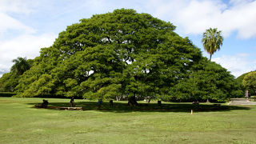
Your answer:
[[[10,71],[15,72],[18,75],[22,75],[26,70],[30,69],[30,63],[26,60],[26,58],[20,58],[13,60],[14,65],[11,66]]]

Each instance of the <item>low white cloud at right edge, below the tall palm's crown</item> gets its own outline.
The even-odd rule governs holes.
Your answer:
[[[221,58],[213,58],[212,61],[225,67],[235,77],[256,70],[256,62],[250,60],[250,54],[223,55]]]

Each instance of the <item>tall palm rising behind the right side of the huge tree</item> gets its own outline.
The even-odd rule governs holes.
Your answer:
[[[214,52],[220,50],[220,46],[222,46],[224,38],[221,33],[222,31],[218,31],[217,28],[210,28],[202,34],[202,45],[207,53],[210,54],[210,60]]]

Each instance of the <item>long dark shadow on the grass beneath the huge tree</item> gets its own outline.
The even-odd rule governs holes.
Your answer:
[[[29,103],[34,105],[35,103]],[[48,108],[50,110],[58,110],[58,107],[69,107],[70,102],[49,102]],[[114,102],[113,106],[110,106],[109,102],[103,102],[100,109],[98,109],[98,102],[75,102],[75,106],[82,106],[82,110],[98,110],[114,113],[128,113],[133,111],[139,112],[213,112],[213,111],[230,111],[230,110],[250,110],[250,107],[244,106],[216,106],[214,104],[200,104],[193,105],[190,103],[163,103],[158,106],[157,103],[139,103],[138,106],[128,106],[127,103]]]

